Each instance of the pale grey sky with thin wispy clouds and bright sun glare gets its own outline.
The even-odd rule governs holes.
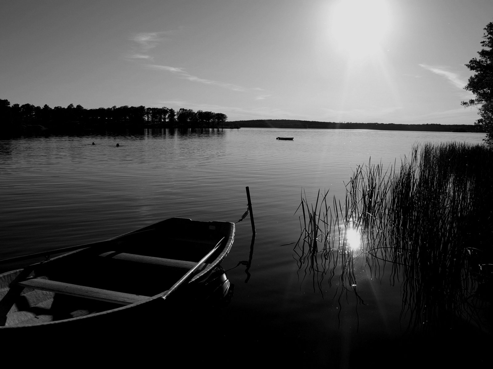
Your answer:
[[[11,104],[473,124],[493,0],[1,0]]]

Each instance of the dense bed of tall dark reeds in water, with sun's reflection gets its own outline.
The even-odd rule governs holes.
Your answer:
[[[484,271],[493,260],[492,164],[493,150],[482,145],[415,145],[399,167],[358,166],[344,203],[334,198],[329,206],[327,191],[313,208],[302,196],[300,270],[314,272],[321,291],[321,280],[328,276],[331,285],[340,268],[338,285],[360,300],[354,265],[362,258],[372,276],[384,277],[389,267],[391,282],[401,284],[401,317],[409,328],[459,320],[484,326],[482,310],[491,299]]]

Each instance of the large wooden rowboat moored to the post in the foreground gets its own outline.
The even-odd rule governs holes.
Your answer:
[[[234,233],[231,222],[170,218],[1,274],[0,333],[167,307],[207,284]]]

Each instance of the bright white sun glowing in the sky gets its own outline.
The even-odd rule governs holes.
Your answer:
[[[387,1],[339,0],[331,9],[330,25],[331,38],[340,52],[378,52],[390,26]]]

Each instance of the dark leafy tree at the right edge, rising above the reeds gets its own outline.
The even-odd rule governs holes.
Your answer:
[[[474,124],[486,131],[484,141],[493,146],[493,22],[488,23],[484,30],[484,41],[481,41],[483,49],[478,51],[479,58],[473,58],[465,64],[475,74],[469,77],[464,89],[476,97],[462,101],[462,105],[479,106],[478,114],[481,118]]]

